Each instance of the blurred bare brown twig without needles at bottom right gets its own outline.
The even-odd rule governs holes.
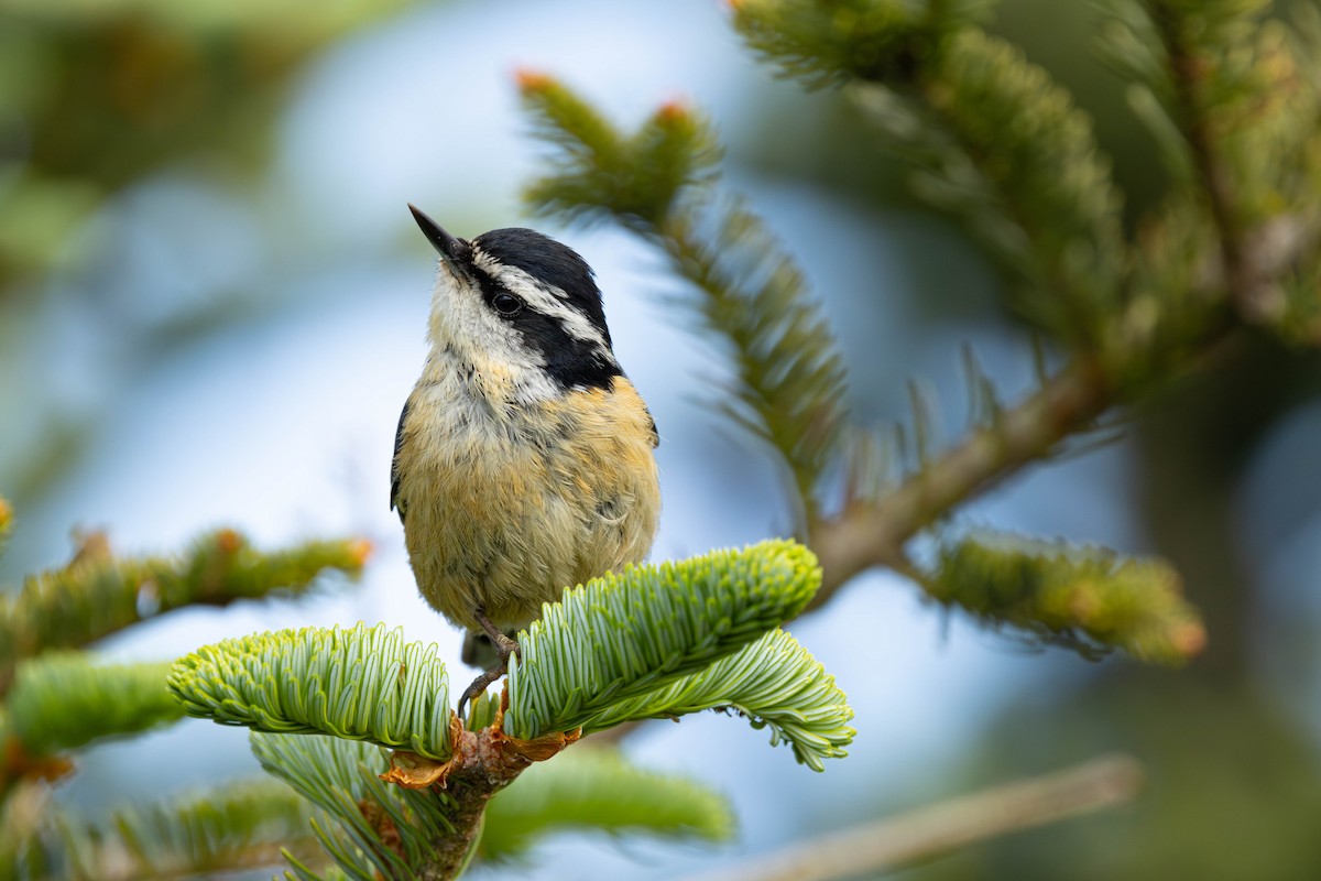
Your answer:
[[[976,841],[1122,804],[1137,795],[1141,782],[1136,759],[1102,757],[822,836],[690,881],[830,881],[893,870]]]

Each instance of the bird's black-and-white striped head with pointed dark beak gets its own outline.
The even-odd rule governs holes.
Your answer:
[[[413,206],[440,252],[432,345],[469,366],[507,375],[524,399],[609,387],[621,374],[592,267],[534,230],[456,238]]]

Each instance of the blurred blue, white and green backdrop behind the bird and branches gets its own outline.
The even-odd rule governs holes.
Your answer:
[[[993,29],[1095,115],[1136,214],[1162,186],[1085,3],[1005,0]],[[0,582],[67,559],[70,527],[161,552],[230,524],[264,547],[361,534],[361,585],[166,616],[103,649],[169,658],[297,625],[458,634],[416,596],[387,510],[399,407],[420,369],[433,252],[412,201],[460,235],[528,223],[544,149],[514,73],[564,78],[617,120],[682,98],[719,124],[745,193],[826,302],[857,412],[935,390],[956,436],[959,347],[1012,398],[1029,337],[956,223],[914,202],[845,102],[774,81],[715,0],[4,0],[0,3]],[[633,239],[548,230],[596,267],[616,349],[660,428],[654,557],[790,522],[770,462],[709,413],[721,362]],[[741,818],[721,848],[544,844],[483,877],[671,878],[967,789],[1128,750],[1135,806],[909,870],[911,878],[1321,877],[1321,370],[1244,341],[1133,413],[1122,440],[1034,468],[960,512],[1170,557],[1210,646],[1184,671],[1089,663],[987,633],[901,579],[857,579],[794,634],[857,711],[822,775],[719,716],[654,724],[639,763],[701,778]],[[95,811],[256,774],[244,732],[188,721],[91,750],[61,798]]]

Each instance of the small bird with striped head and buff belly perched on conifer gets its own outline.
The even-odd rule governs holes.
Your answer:
[[[647,556],[660,436],[576,251],[522,227],[461,239],[408,207],[440,258],[390,506],[423,598],[466,630],[464,662],[494,662],[462,716],[543,604]]]

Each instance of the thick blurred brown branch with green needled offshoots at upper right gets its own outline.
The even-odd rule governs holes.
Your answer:
[[[855,85],[860,107],[889,136],[886,145],[923,168],[919,193],[972,219],[1026,283],[1020,305],[1029,317],[1074,349],[1071,367],[1045,380],[1017,407],[996,404],[989,421],[975,423],[954,449],[921,462],[897,486],[889,483],[884,450],[869,441],[857,445],[852,465],[865,476],[865,486],[847,487],[845,510],[811,524],[811,544],[826,572],[814,608],[872,564],[908,571],[902,547],[918,530],[1029,462],[1053,454],[1071,435],[1092,428],[1112,405],[1151,388],[1159,375],[1196,363],[1232,329],[1217,304],[1275,291],[1280,275],[1316,244],[1309,207],[1314,194],[1310,202],[1299,198],[1306,190],[1300,190],[1295,178],[1305,176],[1292,170],[1306,166],[1300,159],[1303,145],[1314,144],[1316,135],[1297,123],[1289,128],[1276,122],[1291,116],[1277,104],[1299,92],[1297,77],[1291,73],[1295,66],[1283,41],[1263,37],[1264,42],[1250,45],[1254,29],[1240,26],[1260,3],[1145,4],[1166,15],[1168,36],[1185,37],[1177,28],[1170,30],[1170,22],[1196,17],[1193,30],[1199,40],[1215,45],[1223,37],[1221,42],[1236,46],[1232,53],[1218,50],[1223,54],[1217,63],[1207,58],[1193,63],[1186,40],[1165,41],[1168,55],[1185,59],[1174,66],[1182,77],[1182,116],[1198,120],[1189,139],[1210,148],[1213,132],[1223,139],[1235,128],[1225,119],[1207,127],[1214,102],[1198,88],[1214,74],[1218,100],[1242,106],[1235,110],[1238,129],[1252,128],[1250,116],[1262,122],[1267,115],[1269,122],[1269,133],[1263,136],[1268,149],[1239,148],[1234,170],[1248,169],[1255,174],[1252,181],[1263,184],[1263,193],[1281,193],[1273,199],[1276,210],[1297,206],[1293,217],[1258,211],[1251,217],[1259,226],[1250,227],[1243,210],[1231,205],[1235,194],[1230,192],[1229,166],[1203,149],[1198,162],[1203,182],[1218,178],[1209,189],[1221,203],[1221,251],[1227,258],[1213,271],[1205,269],[1209,255],[1201,247],[1196,219],[1180,210],[1166,213],[1173,221],[1166,229],[1148,229],[1136,260],[1128,256],[1119,223],[1120,198],[1086,115],[1045,71],[982,32],[976,26],[980,11],[972,5],[898,0],[736,0],[731,5],[734,26],[746,42],[786,75],[808,87]],[[1136,21],[1140,13],[1135,18],[1128,11],[1131,4],[1116,0],[1112,5],[1124,7],[1120,12],[1128,29],[1122,32],[1131,38],[1111,54],[1131,61],[1139,77],[1162,78],[1160,46],[1144,48],[1144,41],[1160,41],[1148,40],[1151,34]],[[1276,82],[1281,86],[1277,91],[1289,98],[1244,98],[1260,95]],[[1321,104],[1316,98],[1308,100],[1295,107],[1303,112],[1292,116],[1316,119]],[[1262,152],[1279,157],[1276,165],[1285,170],[1252,159]],[[1272,201],[1259,197],[1258,203]],[[1309,231],[1276,235],[1285,227]],[[1227,246],[1226,235],[1234,239]],[[1275,247],[1280,242],[1293,244]],[[1283,254],[1288,256],[1281,259]],[[1135,268],[1125,273],[1131,263]],[[983,398],[989,402],[993,395]]]

